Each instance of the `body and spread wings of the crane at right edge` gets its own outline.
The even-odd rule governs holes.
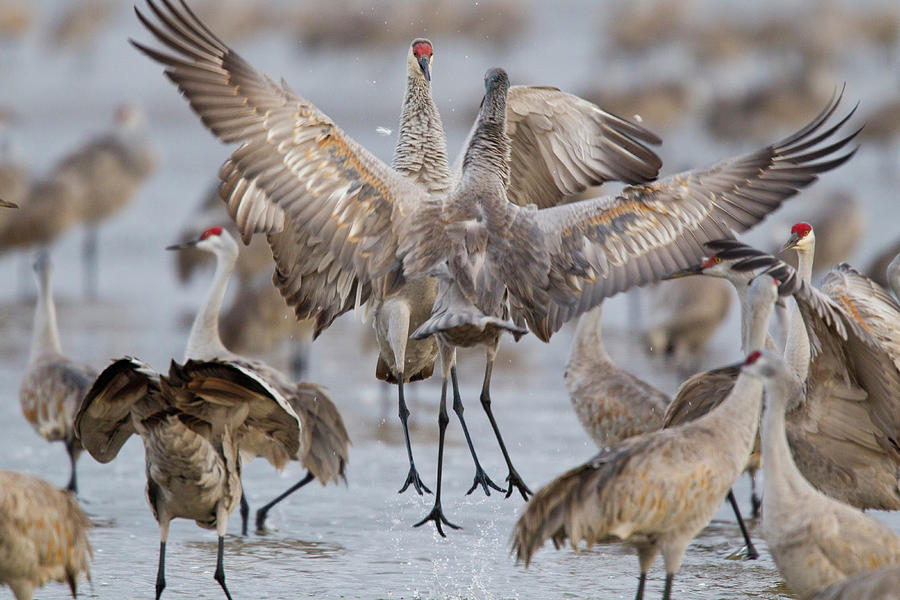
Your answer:
[[[734,269],[766,269],[793,294],[805,331],[792,328],[785,360],[803,386],[803,401],[786,416],[794,461],[818,490],[857,508],[900,510],[900,307],[848,265],[822,281],[822,294],[773,256],[734,240],[717,254],[743,257]],[[804,259],[801,258],[801,265]],[[808,274],[808,270],[804,276]],[[827,294],[827,295],[826,295]],[[828,314],[823,312],[827,308]],[[824,316],[823,316],[824,315]],[[835,320],[840,321],[834,325]],[[804,356],[812,356],[804,364]]]

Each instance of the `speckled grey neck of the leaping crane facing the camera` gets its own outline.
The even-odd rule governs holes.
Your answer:
[[[391,166],[423,185],[429,193],[442,193],[450,188],[447,141],[441,115],[431,97],[431,83],[412,73],[406,80]]]

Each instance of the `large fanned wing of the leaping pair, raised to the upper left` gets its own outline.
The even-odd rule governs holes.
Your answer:
[[[246,243],[266,233],[275,283],[300,318],[327,327],[399,270],[398,233],[424,190],[347,136],[328,116],[257,71],[182,1],[148,0],[138,18],[172,53],[132,43],[165,73],[219,139],[240,143],[221,196]]]

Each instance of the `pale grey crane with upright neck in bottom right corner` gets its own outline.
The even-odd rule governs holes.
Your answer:
[[[797,469],[785,431],[785,411],[803,401],[795,375],[768,351],[751,368],[764,377],[766,392],[762,530],[787,584],[801,598],[809,598],[854,573],[900,565],[900,536],[818,491]]]

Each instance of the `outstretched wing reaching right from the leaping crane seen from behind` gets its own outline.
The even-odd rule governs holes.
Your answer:
[[[694,263],[705,253],[704,242],[732,237],[759,223],[820,173],[854,154],[834,156],[858,131],[837,141],[831,138],[856,109],[825,125],[840,100],[837,95],[798,132],[756,152],[630,186],[616,196],[531,211],[544,233],[551,255],[550,285],[556,289],[549,306],[514,298],[516,320],[524,318],[547,340],[603,298]],[[517,275],[525,279],[527,272]]]

